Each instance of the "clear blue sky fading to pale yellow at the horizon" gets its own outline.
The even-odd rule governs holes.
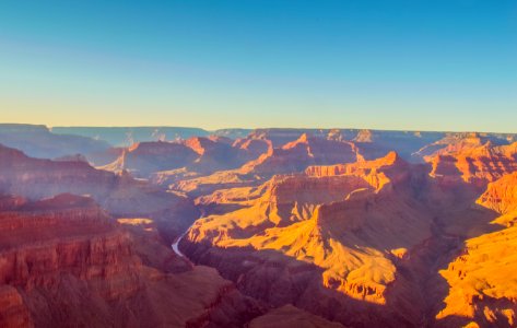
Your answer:
[[[0,121],[517,132],[517,1],[5,0]]]

